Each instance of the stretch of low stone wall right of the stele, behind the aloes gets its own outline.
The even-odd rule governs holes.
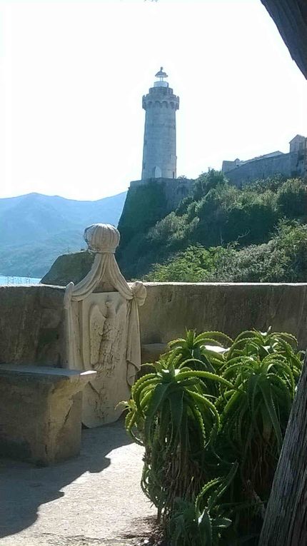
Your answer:
[[[141,343],[168,343],[186,328],[235,337],[248,328],[293,333],[307,346],[307,284],[145,283]]]

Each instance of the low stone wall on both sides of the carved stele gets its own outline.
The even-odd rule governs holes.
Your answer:
[[[235,337],[258,328],[290,332],[307,347],[307,284],[146,283],[141,343],[166,343],[186,328]],[[61,366],[64,288],[0,287],[0,363]]]

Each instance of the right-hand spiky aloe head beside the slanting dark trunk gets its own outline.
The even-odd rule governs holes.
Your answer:
[[[294,348],[292,335],[248,331],[236,338],[220,369],[233,384],[223,388],[217,404],[223,438],[241,460],[244,487],[253,484],[257,495],[271,487],[301,373]]]

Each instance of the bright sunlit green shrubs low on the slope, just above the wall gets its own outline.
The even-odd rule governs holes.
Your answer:
[[[307,281],[307,225],[281,222],[261,245],[203,248],[190,246],[156,264],[146,280],[183,282]]]

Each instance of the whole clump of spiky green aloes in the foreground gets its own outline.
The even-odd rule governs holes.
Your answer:
[[[271,330],[234,341],[190,331],[132,388],[126,428],[145,447],[141,485],[173,546],[256,537],[301,372],[296,345]]]

